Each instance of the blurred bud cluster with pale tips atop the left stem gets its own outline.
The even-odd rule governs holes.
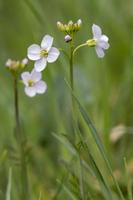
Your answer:
[[[28,64],[28,59],[24,58],[22,61],[8,59],[6,61],[6,67],[11,71],[17,71],[24,68]]]

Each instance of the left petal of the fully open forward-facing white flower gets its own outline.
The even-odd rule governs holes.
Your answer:
[[[30,60],[38,60],[41,58],[41,55],[40,55],[40,51],[41,51],[41,48],[39,45],[37,44],[32,44],[29,48],[28,48],[28,58]]]

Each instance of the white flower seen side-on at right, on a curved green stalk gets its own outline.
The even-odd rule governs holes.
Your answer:
[[[104,50],[109,48],[109,38],[102,34],[102,30],[99,26],[93,24],[92,26],[93,39],[87,41],[87,44],[91,47],[95,47],[96,53],[99,58],[103,58]]]

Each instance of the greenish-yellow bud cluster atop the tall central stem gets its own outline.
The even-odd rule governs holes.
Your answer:
[[[79,19],[76,23],[73,23],[73,21],[69,21],[67,24],[63,24],[59,21],[57,22],[58,29],[68,35],[71,35],[79,31],[81,28],[81,25],[82,25],[81,19]]]

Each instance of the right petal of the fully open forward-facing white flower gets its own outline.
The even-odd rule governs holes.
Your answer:
[[[59,50],[55,47],[52,47],[48,53],[47,61],[49,63],[55,62],[59,57],[59,55],[60,55]]]

